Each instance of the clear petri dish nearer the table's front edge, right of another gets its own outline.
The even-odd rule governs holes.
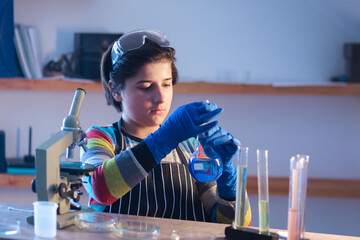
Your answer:
[[[115,224],[114,233],[127,239],[156,239],[160,234],[160,227],[147,222],[120,221]]]

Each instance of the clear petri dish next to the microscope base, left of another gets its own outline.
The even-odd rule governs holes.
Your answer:
[[[75,216],[75,225],[92,232],[111,232],[118,221],[116,216],[107,213],[87,212]]]

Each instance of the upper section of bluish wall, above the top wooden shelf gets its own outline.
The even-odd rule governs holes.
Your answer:
[[[340,4],[341,3],[341,4]],[[74,32],[164,31],[182,81],[326,82],[344,74],[344,42],[360,41],[356,0],[14,0],[38,27],[47,63],[73,51]],[[35,16],[35,17],[34,17]]]

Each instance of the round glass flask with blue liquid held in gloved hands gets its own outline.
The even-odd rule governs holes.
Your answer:
[[[189,159],[191,176],[199,182],[216,181],[223,172],[223,164],[219,158],[208,157],[196,137],[195,151]]]

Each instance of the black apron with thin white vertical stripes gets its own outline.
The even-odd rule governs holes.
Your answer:
[[[119,123],[115,128],[115,154],[126,149]],[[182,220],[207,221],[195,181],[188,171],[186,158],[179,147],[176,148],[180,163],[162,163],[149,172],[148,176],[132,188],[122,198],[105,208],[105,212],[151,216]]]

